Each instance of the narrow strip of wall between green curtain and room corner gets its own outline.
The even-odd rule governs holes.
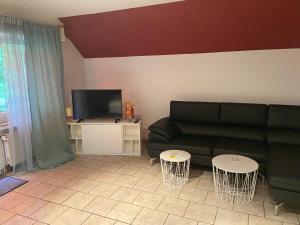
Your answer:
[[[86,86],[83,57],[68,38],[62,42],[62,48],[65,70],[65,103],[67,107],[71,107],[71,90],[84,89]]]

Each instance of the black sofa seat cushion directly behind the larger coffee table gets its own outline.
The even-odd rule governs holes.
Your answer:
[[[267,150],[262,142],[239,139],[217,139],[213,148],[213,156],[237,154],[254,159],[259,163],[266,162]]]

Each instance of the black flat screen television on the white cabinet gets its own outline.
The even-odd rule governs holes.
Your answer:
[[[121,90],[72,90],[73,118],[122,118]]]

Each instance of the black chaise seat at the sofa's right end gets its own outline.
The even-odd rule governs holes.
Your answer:
[[[268,177],[272,187],[300,192],[300,146],[271,144]]]

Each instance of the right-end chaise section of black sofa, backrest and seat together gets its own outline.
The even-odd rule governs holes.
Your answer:
[[[270,105],[268,180],[278,202],[300,205],[300,107]]]

